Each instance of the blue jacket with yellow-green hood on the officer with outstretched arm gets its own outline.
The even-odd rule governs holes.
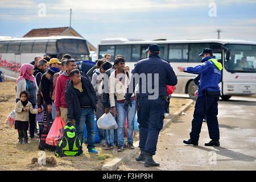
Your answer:
[[[201,65],[184,68],[184,72],[200,75],[198,97],[204,96],[204,90],[210,92],[220,92],[218,83],[221,80],[222,65],[218,63],[214,56],[205,57]]]

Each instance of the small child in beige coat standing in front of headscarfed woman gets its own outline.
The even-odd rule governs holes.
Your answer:
[[[28,93],[22,91],[19,94],[20,100],[17,102],[15,107],[15,129],[18,129],[19,144],[27,143],[27,130],[28,130],[28,116],[29,112],[32,114],[38,114],[42,112],[42,109],[33,109],[32,104],[27,101]]]

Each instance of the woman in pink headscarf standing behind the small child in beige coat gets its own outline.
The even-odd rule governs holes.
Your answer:
[[[36,105],[36,93],[38,92],[38,85],[33,75],[34,66],[32,64],[22,64],[19,68],[20,76],[16,80],[16,102],[19,101],[19,94],[22,91],[28,92],[28,101],[31,102],[32,107]],[[35,137],[35,114],[29,114],[30,123],[30,138]]]

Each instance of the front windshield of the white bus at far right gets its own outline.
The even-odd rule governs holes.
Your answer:
[[[256,46],[245,44],[226,44],[230,50],[230,60],[225,60],[229,72],[256,73]]]

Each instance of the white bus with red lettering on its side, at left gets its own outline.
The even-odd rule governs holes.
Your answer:
[[[36,55],[61,57],[69,53],[75,60],[89,60],[85,39],[76,36],[0,39],[0,69],[6,77],[17,78],[24,63],[34,61]]]

